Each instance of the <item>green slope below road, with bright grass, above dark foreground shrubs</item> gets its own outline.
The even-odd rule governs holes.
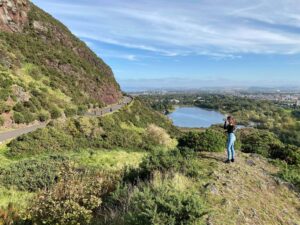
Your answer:
[[[73,175],[80,180],[83,174],[109,174],[115,183],[154,149],[174,148],[176,134],[169,120],[138,100],[105,117],[51,123],[0,147],[0,207],[12,203],[28,215],[30,199]]]

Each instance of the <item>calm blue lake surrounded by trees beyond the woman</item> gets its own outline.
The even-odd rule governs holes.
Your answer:
[[[207,128],[213,124],[223,123],[225,116],[217,111],[198,107],[178,107],[168,117],[178,127]]]

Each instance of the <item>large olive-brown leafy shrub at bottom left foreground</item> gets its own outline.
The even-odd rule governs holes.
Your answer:
[[[100,177],[72,177],[41,192],[30,205],[32,221],[37,224],[89,224],[107,191]]]

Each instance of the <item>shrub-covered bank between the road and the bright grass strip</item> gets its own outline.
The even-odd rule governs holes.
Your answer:
[[[160,144],[175,146],[176,143],[171,137],[157,126],[173,136],[177,133],[171,121],[136,100],[118,113],[105,117],[79,117],[64,122],[51,122],[45,129],[13,140],[9,143],[8,154],[20,158],[44,153],[79,151],[82,148],[122,147],[138,150],[151,149],[151,146]]]

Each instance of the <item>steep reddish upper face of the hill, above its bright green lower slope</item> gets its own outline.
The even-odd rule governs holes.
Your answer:
[[[6,62],[14,61],[15,67],[34,64],[75,103],[85,98],[85,102],[105,105],[121,97],[111,68],[63,24],[29,1],[0,0],[0,34]]]

